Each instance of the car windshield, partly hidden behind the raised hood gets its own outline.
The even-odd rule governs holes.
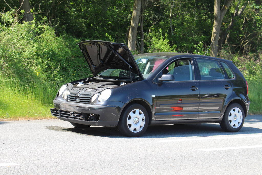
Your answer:
[[[141,73],[143,74],[144,78],[148,78],[156,68],[162,64],[167,57],[157,57],[157,56],[134,56],[135,62],[138,65]],[[130,74],[128,70],[122,69],[107,69],[100,73],[102,76],[113,76],[113,77],[120,77],[120,78],[130,78]],[[132,73],[132,78],[136,79],[138,75]]]

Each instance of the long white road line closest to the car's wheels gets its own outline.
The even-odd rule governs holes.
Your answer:
[[[237,139],[237,138],[248,138],[248,137],[262,137],[262,135],[239,135],[239,136],[226,136],[226,137],[209,137],[202,136],[192,139],[168,139],[168,140],[157,140],[157,142],[173,142],[173,141],[193,141],[193,140],[216,140],[216,139]]]

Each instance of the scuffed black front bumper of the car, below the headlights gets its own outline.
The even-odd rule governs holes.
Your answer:
[[[58,119],[85,124],[85,125],[96,125],[96,126],[106,126],[106,127],[116,127],[119,121],[121,108],[124,106],[124,103],[119,101],[110,101],[110,105],[89,105],[81,104],[74,102],[63,102],[59,100],[54,100],[54,109],[51,109],[51,114]],[[54,111],[61,111],[54,113]],[[52,112],[53,111],[53,112]],[[72,113],[72,115],[81,115],[84,114],[96,114],[99,115],[98,121],[85,121],[83,119],[67,117],[66,115],[61,115],[63,112]]]

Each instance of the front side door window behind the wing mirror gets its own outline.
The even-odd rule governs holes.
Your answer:
[[[168,65],[168,73],[173,74],[175,81],[194,80],[194,72],[191,60],[178,60]]]

